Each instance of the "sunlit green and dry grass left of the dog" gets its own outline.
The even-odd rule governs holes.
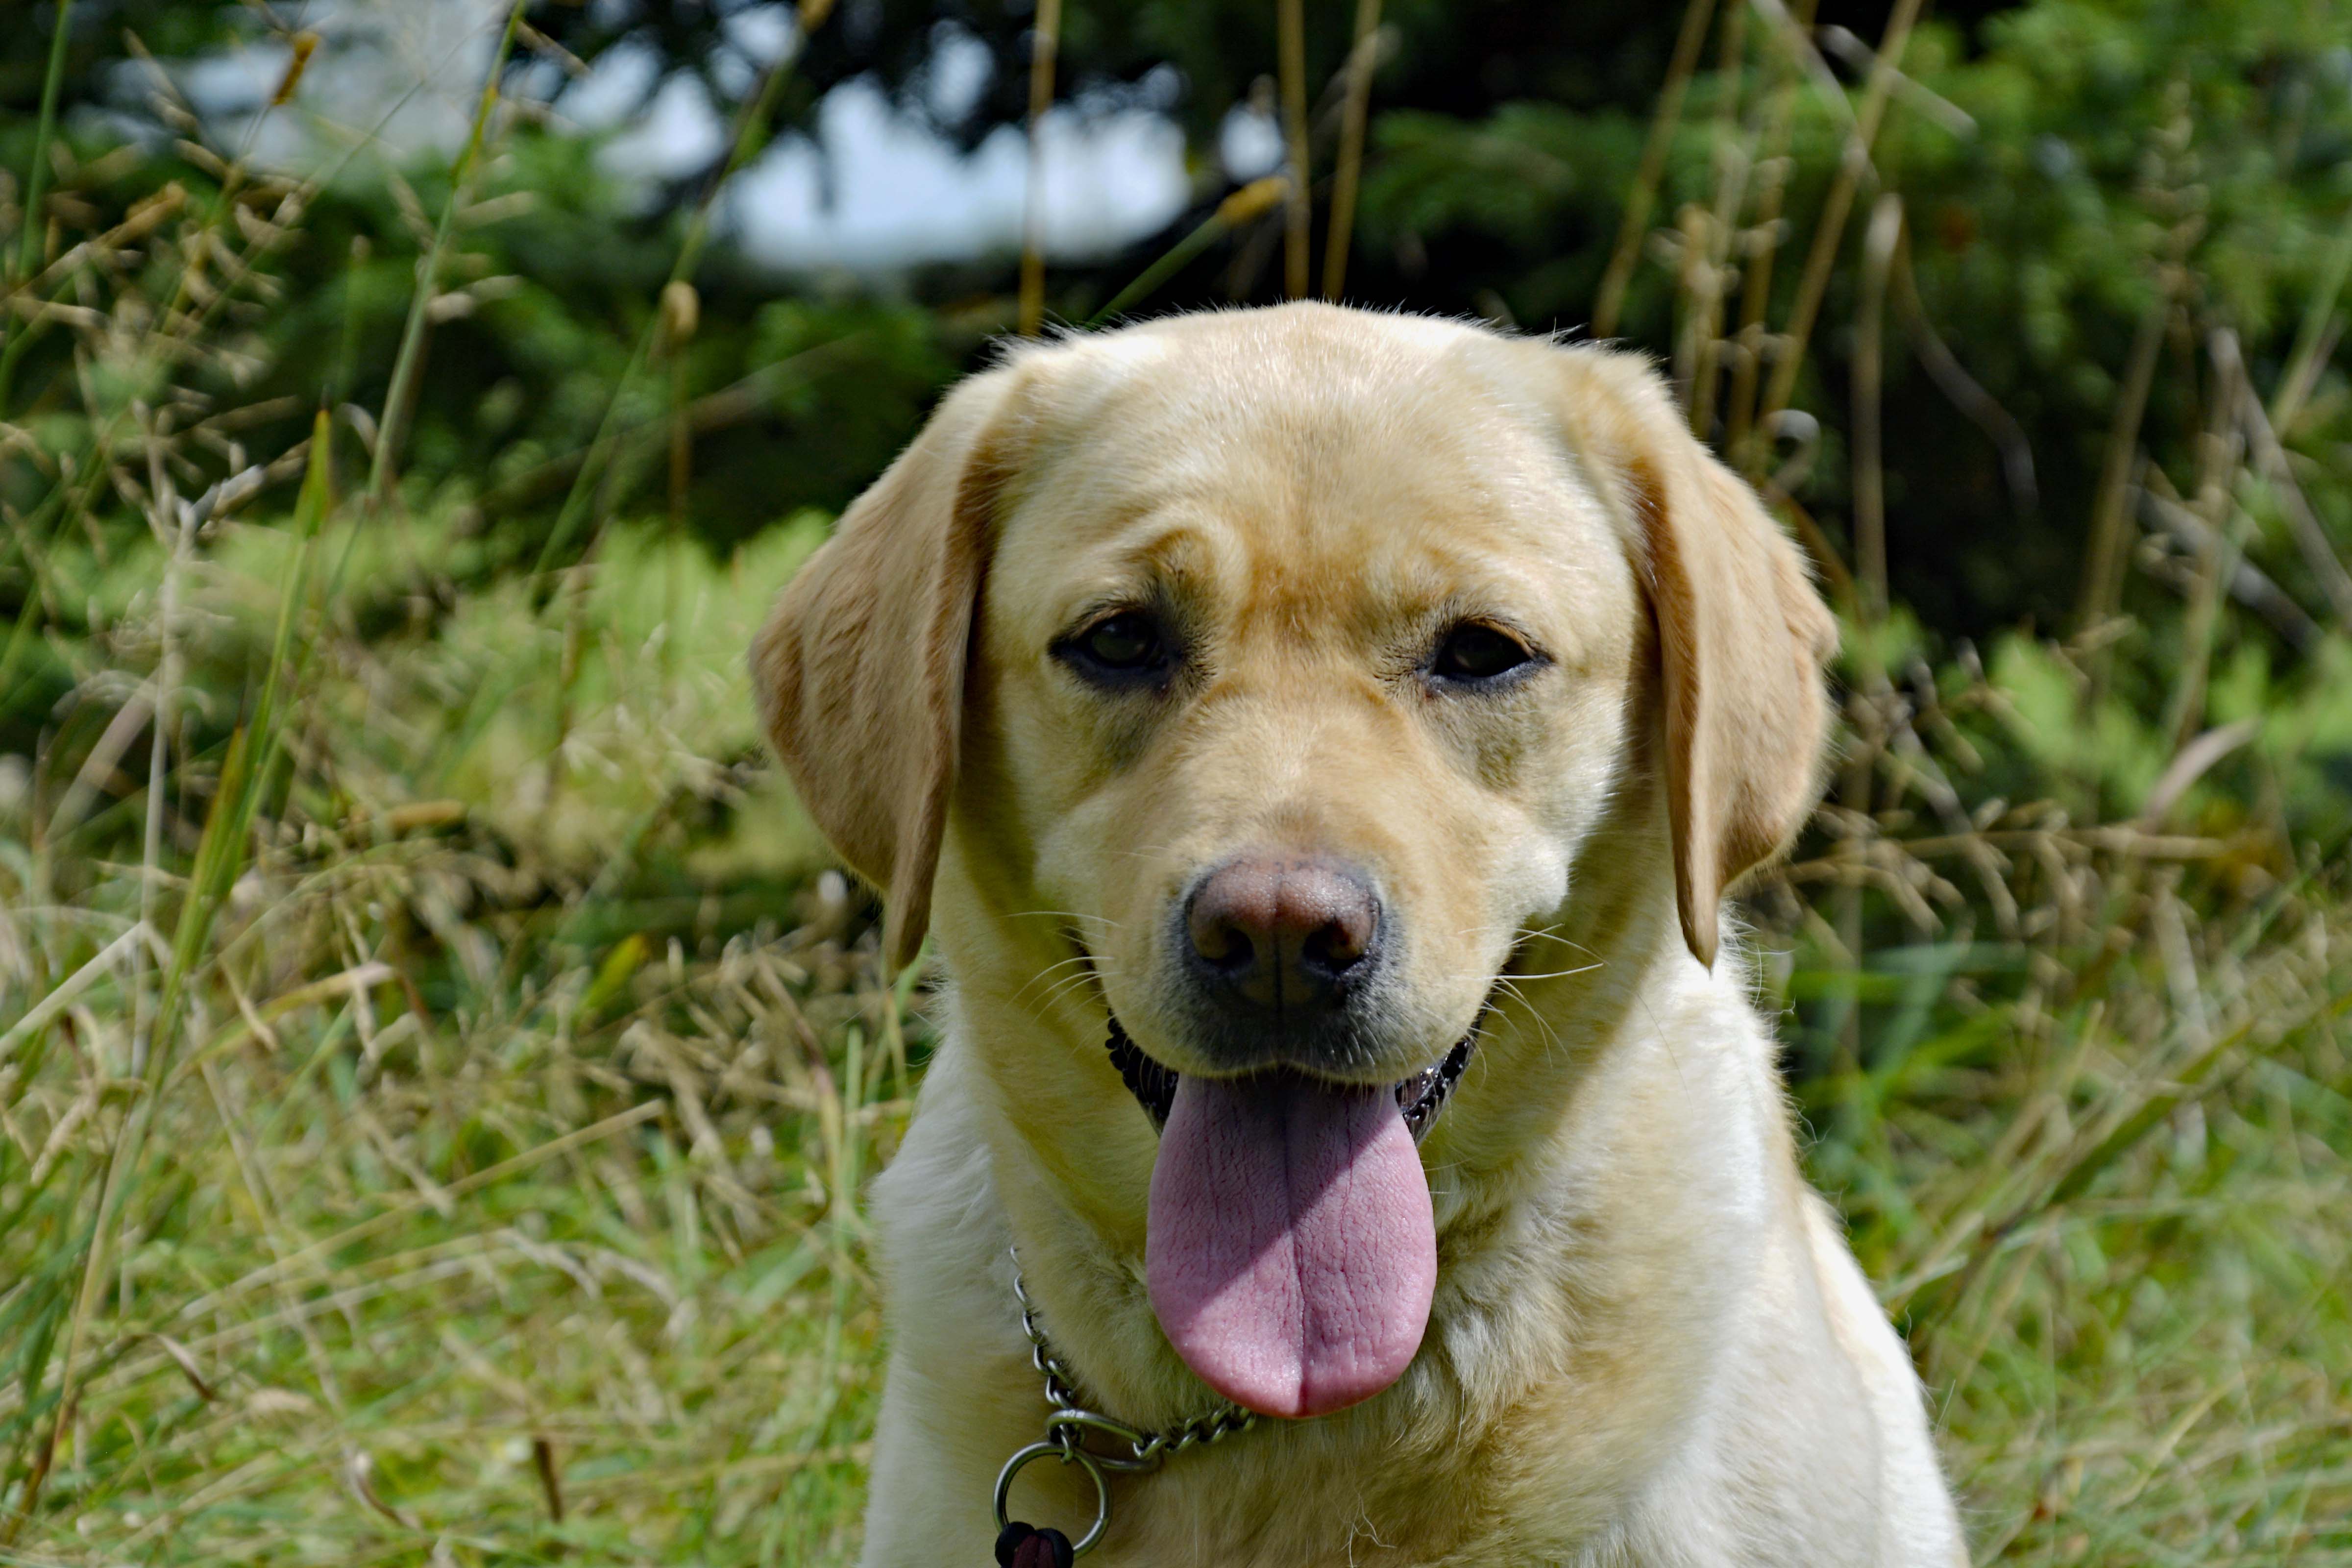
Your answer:
[[[259,632],[285,545],[223,541],[191,614]],[[666,562],[701,628],[670,677],[668,585],[637,567],[621,545],[604,578],[633,597],[586,588],[553,757],[527,733],[543,712],[449,701],[567,682],[562,628],[510,635],[520,585],[390,661],[320,649],[294,802],[146,1081],[115,936],[139,867],[14,832],[56,799],[16,771],[9,997],[108,954],[0,1046],[7,1502],[52,1455],[16,1559],[842,1552],[877,1331],[854,1192],[903,1124],[906,997],[837,877],[739,858],[729,898],[633,898],[628,858],[675,856],[680,818],[757,788],[682,738],[746,748],[734,644],[783,557]],[[191,788],[221,802],[226,776]],[[421,780],[447,795],[390,788]],[[767,813],[771,846],[807,844]],[[111,1157],[136,1168],[52,1453],[59,1359],[28,1378],[26,1352],[78,1307],[59,1265]]]

